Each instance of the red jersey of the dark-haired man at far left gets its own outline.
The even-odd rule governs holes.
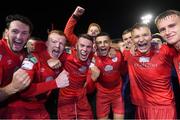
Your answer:
[[[8,47],[7,40],[0,40],[0,86],[6,86],[12,80],[13,73],[21,67],[25,51],[14,53]]]

